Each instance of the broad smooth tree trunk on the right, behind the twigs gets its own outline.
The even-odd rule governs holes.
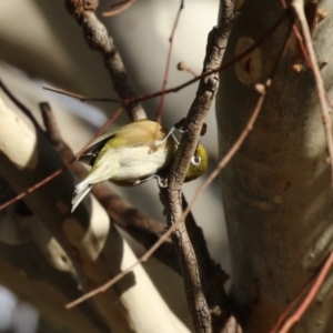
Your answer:
[[[331,0],[319,8],[313,43],[321,64],[332,59]],[[225,61],[259,39],[282,14],[280,1],[245,1]],[[220,153],[243,131],[258,100],[254,83],[272,70],[289,21],[246,59],[221,73],[218,101]],[[300,63],[303,70],[291,68]],[[332,99],[333,62],[322,67]],[[280,64],[258,122],[222,172],[222,195],[231,245],[231,296],[245,332],[268,332],[279,314],[317,272],[332,249],[333,191],[321,109],[311,70],[295,38]],[[295,332],[331,332],[332,275]]]

